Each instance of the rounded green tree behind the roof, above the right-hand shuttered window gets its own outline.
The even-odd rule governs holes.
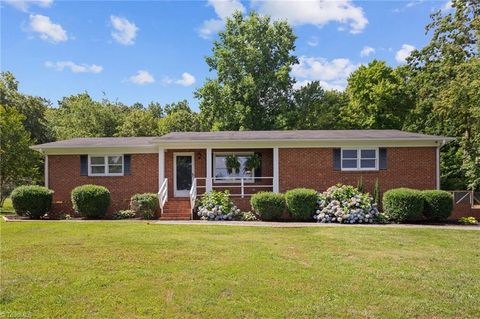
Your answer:
[[[401,129],[413,101],[399,71],[384,61],[360,66],[348,78],[343,119],[351,128]]]

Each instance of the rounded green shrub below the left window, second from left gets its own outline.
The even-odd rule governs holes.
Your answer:
[[[110,192],[99,185],[82,185],[72,191],[73,209],[86,218],[103,218],[110,205]]]

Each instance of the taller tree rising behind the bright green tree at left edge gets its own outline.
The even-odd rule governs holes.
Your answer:
[[[18,81],[11,72],[0,73],[0,104],[13,107],[23,115],[23,125],[36,143],[54,139],[45,117],[49,102],[18,92]]]

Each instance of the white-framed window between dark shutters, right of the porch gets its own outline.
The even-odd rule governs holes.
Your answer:
[[[378,148],[342,148],[342,171],[378,170]]]

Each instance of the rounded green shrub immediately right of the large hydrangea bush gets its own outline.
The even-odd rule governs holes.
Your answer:
[[[422,218],[422,192],[410,188],[395,188],[383,194],[383,210],[392,221],[407,222]]]

